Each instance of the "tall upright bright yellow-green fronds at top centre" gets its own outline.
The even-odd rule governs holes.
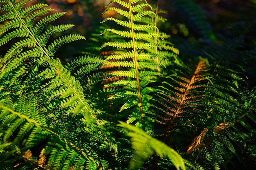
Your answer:
[[[117,3],[120,7],[110,7],[114,3]],[[117,25],[122,26],[123,30],[126,31],[107,28],[103,31],[103,34],[112,33],[119,35],[123,40],[126,39],[126,41],[108,41],[101,46],[101,48],[109,46],[117,50],[121,49],[112,55],[108,55],[105,65],[122,68],[118,69],[118,71],[113,70],[109,74],[114,77],[125,77],[125,79],[111,82],[106,84],[106,86],[121,86],[121,90],[126,91],[121,92],[123,95],[114,93],[110,99],[127,97],[128,102],[121,106],[121,110],[138,106],[137,108],[140,111],[135,111],[131,115],[139,113],[136,117],[140,117],[139,119],[143,124],[144,112],[147,110],[147,107],[144,107],[144,105],[147,105],[146,99],[150,98],[148,91],[143,89],[154,82],[158,82],[157,77],[161,76],[160,70],[169,64],[170,60],[168,58],[177,58],[177,53],[167,52],[175,48],[166,40],[164,41],[168,36],[160,33],[157,29],[157,22],[161,20],[158,15],[158,9],[153,9],[150,4],[142,0],[134,2],[113,0],[108,4],[108,7],[105,13],[113,10],[121,17],[119,17],[120,19],[109,17],[104,19],[103,22],[113,21]],[[161,52],[158,53],[157,49]],[[155,91],[154,88],[151,88],[151,90]],[[127,93],[127,91],[132,93]],[[135,100],[137,102],[132,102]],[[129,120],[137,120],[137,118],[130,117]]]

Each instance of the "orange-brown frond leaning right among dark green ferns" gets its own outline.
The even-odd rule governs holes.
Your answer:
[[[161,87],[165,92],[158,93],[160,100],[155,100],[156,104],[153,106],[160,111],[157,121],[168,127],[166,137],[170,128],[175,126],[175,119],[182,118],[182,121],[189,121],[193,108],[200,105],[202,96],[205,94],[204,88],[207,87],[207,82],[211,81],[211,77],[205,71],[207,71],[207,65],[201,60],[194,72],[186,68],[183,73],[181,70],[178,75],[168,77],[170,82],[163,82]]]

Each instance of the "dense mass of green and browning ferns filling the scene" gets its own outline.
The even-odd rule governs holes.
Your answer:
[[[64,12],[28,2],[0,0],[0,168],[256,167],[255,20],[224,38],[198,4],[177,0],[203,38],[176,37],[179,50],[158,2],[112,0],[104,13],[116,15],[66,63],[61,45],[89,40],[52,24]]]

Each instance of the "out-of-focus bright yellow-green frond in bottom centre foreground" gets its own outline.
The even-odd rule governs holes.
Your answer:
[[[185,170],[185,164],[182,157],[172,148],[169,148],[166,144],[161,141],[150,137],[143,130],[126,124],[124,122],[119,122],[118,126],[121,126],[128,130],[127,135],[131,137],[132,148],[135,149],[135,155],[131,162],[130,168],[136,169],[142,165],[140,159],[148,159],[150,155],[156,153],[161,158],[168,158],[172,161],[173,165],[178,169]],[[138,159],[140,158],[140,159]]]

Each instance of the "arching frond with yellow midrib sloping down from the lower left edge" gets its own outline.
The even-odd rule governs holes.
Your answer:
[[[99,163],[95,162],[92,157],[76,147],[70,141],[67,141],[64,137],[61,137],[61,135],[54,132],[54,130],[49,127],[45,117],[40,115],[39,110],[37,109],[37,102],[37,99],[34,97],[32,100],[28,100],[26,99],[26,96],[21,96],[15,108],[13,108],[13,106],[6,107],[3,103],[0,104],[0,118],[2,121],[0,131],[3,134],[1,144],[10,143],[10,145],[2,145],[4,147],[2,148],[1,157],[4,159],[1,159],[0,162],[7,161],[9,163],[5,168],[12,169],[11,164],[13,164],[14,168],[34,163],[35,168],[45,167],[56,170],[68,170],[74,165],[74,169],[80,169],[81,159],[88,159],[99,166]],[[20,160],[17,159],[18,156],[26,153],[27,147],[38,147],[38,144],[42,141],[44,141],[47,146],[48,153],[45,154],[45,157],[48,163],[44,162],[40,165],[33,161],[30,162],[29,159],[26,160],[25,163],[19,162]],[[24,148],[16,150],[15,147],[13,147],[15,145]],[[10,155],[11,150],[12,154]],[[52,150],[51,153],[49,153],[49,150]],[[9,159],[13,156],[16,156],[16,160],[11,162]],[[77,164],[78,166],[76,166]]]

